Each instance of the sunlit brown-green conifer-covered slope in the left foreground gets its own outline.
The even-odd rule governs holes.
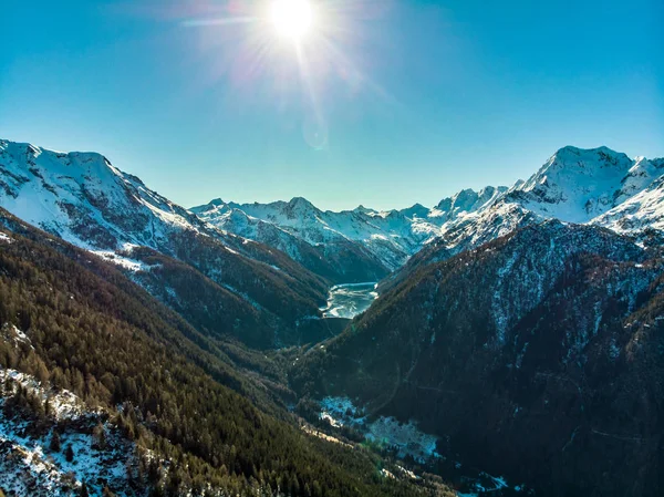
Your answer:
[[[121,463],[115,476],[126,483],[87,482],[92,495],[101,495],[104,485],[136,496],[157,487],[166,495],[203,495],[206,488],[212,495],[271,495],[280,489],[322,496],[323,488],[329,496],[421,495],[406,480],[381,477],[376,466],[382,463],[370,453],[299,429],[263,393],[263,380],[219,351],[206,350],[212,345],[205,336],[116,267],[7,214],[0,232],[1,375],[15,376],[9,367],[39,379],[40,389],[50,382],[55,393],[71,391],[92,411],[107,413],[102,431],[121,433],[126,446],[142,448],[141,472],[134,472],[135,463]],[[21,451],[30,444],[39,456],[30,460],[39,465],[43,454],[38,446],[58,431],[68,443],[96,439],[96,447],[83,447],[92,451],[90,460],[104,451],[105,437],[96,432],[89,442],[81,439],[85,429],[96,428],[58,424],[49,412],[56,404],[48,395],[38,398],[6,385],[1,403],[13,411],[0,414],[2,454],[24,458]],[[123,451],[129,451],[126,446]],[[54,462],[43,457],[48,468],[68,467],[58,449],[50,451]],[[84,460],[79,452],[75,457]],[[3,460],[0,469],[18,467],[9,463]],[[72,486],[58,495],[74,495],[86,469],[74,466]],[[0,474],[0,488],[15,483],[15,475],[6,476]],[[55,494],[48,486],[31,491]]]

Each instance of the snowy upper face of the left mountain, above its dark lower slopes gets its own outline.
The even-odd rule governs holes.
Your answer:
[[[96,153],[0,141],[0,206],[80,247],[163,249],[168,235],[205,231],[181,207]]]

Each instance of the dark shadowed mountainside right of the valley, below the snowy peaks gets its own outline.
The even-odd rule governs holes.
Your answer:
[[[294,384],[415,420],[538,495],[660,495],[663,268],[609,230],[533,225],[419,268]]]

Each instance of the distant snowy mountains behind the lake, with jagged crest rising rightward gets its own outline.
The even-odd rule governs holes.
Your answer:
[[[415,204],[378,211],[364,206],[334,213],[295,197],[270,204],[211,200],[190,210],[225,231],[276,247],[336,282],[374,281],[402,267],[445,224],[481,209],[505,187],[466,189],[433,209]],[[322,268],[325,261],[331,267]]]

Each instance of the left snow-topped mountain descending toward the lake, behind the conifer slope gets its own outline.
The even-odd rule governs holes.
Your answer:
[[[217,284],[221,308],[241,308],[226,320],[239,320],[235,336],[253,346],[297,343],[298,321],[318,315],[325,302],[322,278],[278,250],[204,224],[98,154],[0,141],[0,206],[129,269],[145,269],[139,247],[185,262],[196,278]],[[180,287],[172,276],[154,271],[153,287],[174,292]],[[256,329],[251,338],[248,329]]]

